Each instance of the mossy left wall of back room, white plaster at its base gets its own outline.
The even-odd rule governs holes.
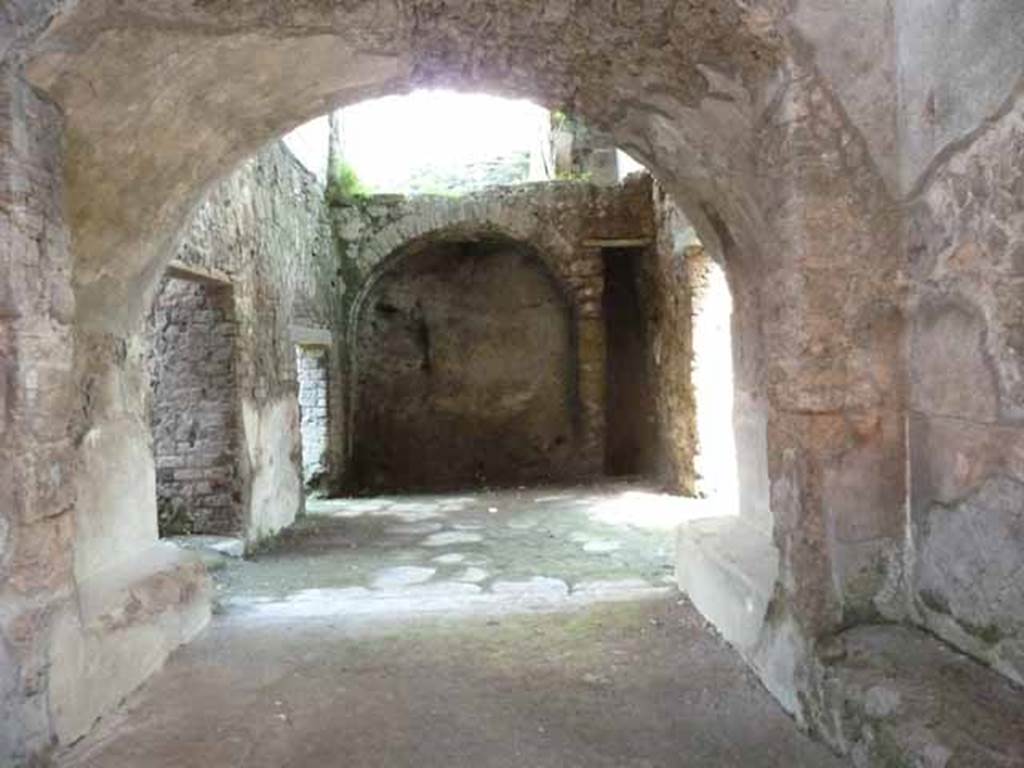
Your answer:
[[[296,333],[343,339],[331,335],[344,285],[323,188],[283,144],[270,144],[208,195],[177,258],[231,284],[243,530],[253,542],[303,509]],[[329,350],[334,397],[343,358],[341,347]],[[328,402],[329,416],[340,413],[340,398]],[[328,472],[340,466],[344,440],[344,421],[332,424]]]

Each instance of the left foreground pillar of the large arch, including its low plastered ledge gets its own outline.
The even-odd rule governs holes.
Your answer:
[[[209,617],[202,563],[156,542],[140,337],[76,325],[61,130],[0,70],[2,765],[82,735]]]

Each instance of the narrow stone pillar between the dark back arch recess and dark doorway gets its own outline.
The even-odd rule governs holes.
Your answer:
[[[605,437],[605,328],[601,310],[604,266],[600,248],[581,248],[568,265],[575,323],[579,472],[599,475],[604,468]]]

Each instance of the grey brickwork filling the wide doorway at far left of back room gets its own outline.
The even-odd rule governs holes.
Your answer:
[[[231,290],[166,278],[150,315],[160,532],[242,532]]]

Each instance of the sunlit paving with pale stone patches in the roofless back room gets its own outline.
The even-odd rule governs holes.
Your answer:
[[[272,620],[662,596],[675,584],[675,526],[713,512],[628,482],[310,500],[265,551],[212,560],[218,609]]]

